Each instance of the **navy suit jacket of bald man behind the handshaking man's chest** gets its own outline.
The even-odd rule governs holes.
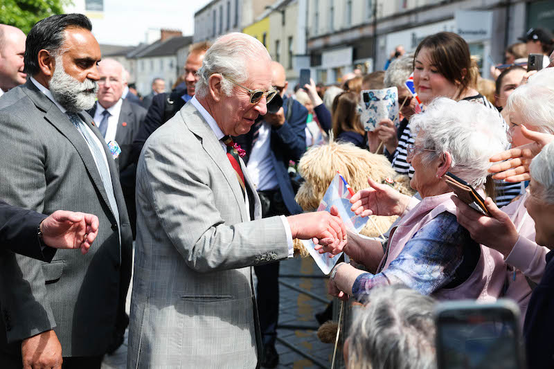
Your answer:
[[[288,99],[287,97],[283,98],[285,117],[287,116]],[[306,151],[306,120],[307,109],[300,102],[293,100],[292,114],[289,120],[285,120],[285,124],[279,128],[271,127],[271,160],[276,170],[281,196],[283,196],[285,206],[291,214],[299,214],[303,211],[294,200],[294,190],[288,168],[289,161],[298,162]],[[247,155],[243,158],[245,163],[248,163],[252,152],[252,135],[253,131],[251,130],[247,134],[234,138],[234,141],[247,152]]]

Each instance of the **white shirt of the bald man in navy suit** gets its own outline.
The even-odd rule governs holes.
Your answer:
[[[258,141],[252,147],[247,168],[256,190],[267,191],[279,187],[271,160],[271,125],[265,121],[258,129]]]

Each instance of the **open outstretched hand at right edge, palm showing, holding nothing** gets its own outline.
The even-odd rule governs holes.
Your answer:
[[[521,133],[535,142],[491,156],[492,163],[501,161],[489,168],[489,172],[496,173],[492,178],[503,179],[506,182],[528,181],[531,178],[529,174],[531,160],[541,152],[544,146],[554,141],[554,135],[531,131],[524,125],[521,125]]]

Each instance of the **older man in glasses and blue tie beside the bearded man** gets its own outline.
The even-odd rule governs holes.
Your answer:
[[[116,159],[119,168],[119,181],[123,189],[127,213],[131,222],[133,238],[136,235],[136,206],[134,204],[134,185],[136,163],[131,160],[131,147],[139,133],[146,109],[122,99],[125,80],[123,66],[114,59],[103,59],[98,64],[98,101],[88,111],[96,122],[100,134],[107,144],[116,142],[121,153]]]

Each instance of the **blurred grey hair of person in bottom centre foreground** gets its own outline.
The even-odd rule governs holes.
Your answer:
[[[350,327],[348,369],[436,368],[434,298],[390,285],[368,302]]]

